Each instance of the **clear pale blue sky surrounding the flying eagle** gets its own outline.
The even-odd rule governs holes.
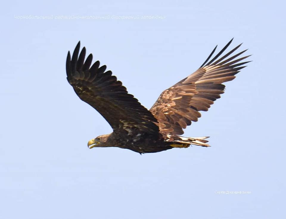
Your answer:
[[[5,1],[0,10],[0,218],[285,218],[285,3]],[[87,148],[112,129],[66,81],[79,40],[150,108],[232,37],[253,62],[184,134],[211,136],[212,147]],[[247,194],[223,194],[235,192]]]

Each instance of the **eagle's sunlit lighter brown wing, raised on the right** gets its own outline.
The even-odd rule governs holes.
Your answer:
[[[240,62],[248,56],[237,58],[246,50],[231,56],[240,45],[226,55],[220,55],[228,48],[231,41],[210,61],[215,49],[203,65],[190,76],[163,91],[150,109],[159,122],[161,133],[183,134],[183,128],[198,121],[199,111],[208,111],[214,101],[224,93],[223,82],[235,78],[242,66],[248,62]],[[237,59],[236,59],[237,58]]]

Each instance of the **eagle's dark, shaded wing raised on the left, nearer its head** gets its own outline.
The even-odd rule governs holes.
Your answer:
[[[66,73],[68,82],[81,100],[96,109],[111,125],[114,132],[133,135],[136,132],[158,136],[156,118],[133,95],[128,94],[122,82],[106,66],[96,61],[91,67],[92,54],[84,62],[86,48],[80,50],[78,42],[74,53],[68,53]]]

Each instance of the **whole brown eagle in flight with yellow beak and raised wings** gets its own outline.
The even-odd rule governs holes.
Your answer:
[[[225,55],[233,39],[213,56],[217,46],[197,71],[163,91],[147,110],[132,94],[106,71],[106,65],[92,64],[92,54],[86,48],[80,52],[80,42],[74,53],[68,52],[66,74],[77,96],[96,109],[111,125],[111,134],[88,141],[88,147],[119,147],[143,153],[155,153],[190,145],[209,147],[208,137],[183,137],[183,128],[198,121],[200,111],[208,111],[224,93],[223,82],[231,81],[245,68],[246,51],[234,53],[241,44]],[[243,61],[243,62],[242,62]],[[92,64],[92,65],[91,65]]]

